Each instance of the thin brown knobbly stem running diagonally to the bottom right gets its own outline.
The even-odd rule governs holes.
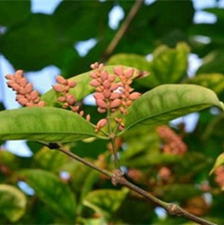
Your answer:
[[[49,144],[42,143],[42,144],[46,145],[50,149],[59,150],[63,154],[68,155],[69,157],[79,161],[80,163],[88,166],[89,168],[94,169],[97,172],[106,175],[108,178],[111,179],[113,185],[116,186],[117,184],[120,184],[122,186],[125,186],[125,187],[129,188],[130,190],[138,193],[139,195],[143,196],[147,200],[152,201],[156,205],[159,205],[159,206],[163,207],[164,209],[167,210],[167,212],[170,215],[184,217],[188,220],[191,220],[191,221],[196,222],[196,223],[201,224],[201,225],[217,225],[213,222],[210,222],[208,220],[197,217],[197,216],[187,212],[186,210],[184,210],[183,208],[181,208],[180,206],[178,206],[174,203],[164,202],[161,199],[157,198],[156,196],[154,196],[154,195],[146,192],[145,190],[139,188],[138,186],[132,184],[126,178],[124,178],[123,172],[121,170],[115,170],[114,172],[110,172],[108,170],[104,170],[104,169],[101,169],[101,168],[97,167],[93,163],[86,161],[85,159],[79,157],[78,155],[76,155],[76,154],[74,154],[74,153],[72,153],[68,150],[63,149],[60,145],[58,145],[56,143],[49,143]]]

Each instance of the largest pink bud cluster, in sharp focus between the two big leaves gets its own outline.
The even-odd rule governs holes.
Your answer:
[[[93,71],[90,73],[92,81],[90,85],[95,88],[94,98],[98,106],[97,110],[100,113],[117,112],[122,115],[127,114],[127,108],[132,102],[140,96],[140,93],[133,92],[130,87],[134,75],[134,69],[124,70],[123,67],[115,67],[114,74],[109,74],[104,70],[104,65],[94,63],[91,65]],[[122,118],[115,117],[119,129],[124,129]],[[106,126],[107,119],[102,119],[98,122],[96,130],[100,130]]]

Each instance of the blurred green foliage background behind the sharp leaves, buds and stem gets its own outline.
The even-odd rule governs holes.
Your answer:
[[[124,12],[116,29],[108,25],[114,7]],[[88,71],[95,61],[133,66],[151,72],[134,83],[140,92],[160,84],[191,83],[212,89],[224,101],[224,9],[203,9],[216,21],[195,24],[196,9],[190,0],[143,2],[115,48],[108,51],[133,7],[135,1],[64,0],[48,15],[33,13],[28,0],[0,1],[0,54],[15,69],[39,71],[54,65],[66,78]],[[87,40],[94,45],[81,56],[75,46]],[[191,56],[202,60],[193,74]],[[93,121],[99,119],[94,106],[83,107]],[[3,103],[0,109],[5,109]],[[125,176],[145,190],[223,224],[224,172],[209,175],[224,149],[223,113],[211,108],[194,115],[197,122],[191,131],[186,130],[187,119],[162,127],[168,139],[155,127],[126,133],[117,143],[121,165]],[[30,157],[17,156],[0,144],[0,224],[193,224],[168,216],[40,144],[27,142]],[[105,141],[78,141],[65,147],[111,168]]]

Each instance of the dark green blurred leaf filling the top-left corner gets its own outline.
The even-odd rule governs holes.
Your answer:
[[[0,1],[0,25],[12,26],[25,20],[30,14],[30,0]],[[16,15],[16,16],[13,16]]]

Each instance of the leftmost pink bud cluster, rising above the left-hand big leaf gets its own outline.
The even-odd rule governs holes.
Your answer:
[[[39,92],[33,90],[33,85],[23,76],[22,70],[17,70],[14,75],[7,74],[5,78],[8,80],[8,87],[16,92],[16,101],[22,106],[45,106],[45,102],[41,101]]]

